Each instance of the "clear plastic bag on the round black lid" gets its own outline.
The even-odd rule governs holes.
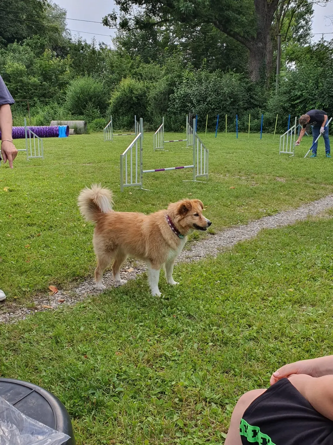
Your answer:
[[[0,445],[61,445],[69,438],[25,416],[0,397]]]

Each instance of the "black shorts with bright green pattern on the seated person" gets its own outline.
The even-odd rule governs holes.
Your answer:
[[[243,445],[333,445],[333,421],[318,413],[288,379],[251,403],[240,433]]]

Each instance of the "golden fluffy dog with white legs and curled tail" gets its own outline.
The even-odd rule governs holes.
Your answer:
[[[194,230],[206,231],[211,222],[202,215],[203,204],[198,199],[184,199],[150,215],[112,210],[111,191],[98,185],[85,188],[79,194],[79,208],[87,221],[95,223],[94,250],[97,257],[95,282],[105,289],[103,272],[111,263],[116,285],[125,284],[120,267],[127,256],[141,259],[148,266],[152,295],[159,291],[159,271],[164,265],[166,281],[172,278],[174,260],[182,251],[187,235]]]

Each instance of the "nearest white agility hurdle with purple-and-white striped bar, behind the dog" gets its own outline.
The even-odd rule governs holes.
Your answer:
[[[193,126],[195,128],[196,120],[193,120]],[[208,168],[209,168],[209,150],[198,137],[198,134],[194,132],[193,134],[193,163],[188,166],[179,167],[165,167],[152,170],[143,170],[143,120],[140,118],[139,123],[139,134],[127,147],[127,149],[120,155],[120,191],[124,191],[124,187],[138,187],[143,189],[143,174],[144,173],[155,173],[158,171],[168,171],[168,170],[182,170],[185,168],[193,169],[193,182],[198,181],[198,178],[208,179]],[[139,144],[139,154],[138,154],[138,144]],[[133,152],[134,151],[134,152]],[[129,158],[129,159],[128,159]],[[130,164],[130,166],[128,165]],[[133,171],[134,170],[134,171]]]

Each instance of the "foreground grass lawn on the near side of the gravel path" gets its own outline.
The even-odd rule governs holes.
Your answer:
[[[179,264],[180,285],[163,280],[164,298],[140,277],[2,325],[0,375],[54,392],[78,445],[222,444],[244,391],[267,387],[281,364],[332,353],[332,258],[330,219],[263,231],[217,259]]]

